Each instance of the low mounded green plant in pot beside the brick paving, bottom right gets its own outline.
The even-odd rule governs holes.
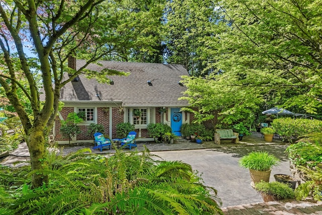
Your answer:
[[[265,202],[295,198],[294,190],[287,184],[278,181],[270,183],[265,181],[259,182],[255,184],[255,189],[261,193]]]

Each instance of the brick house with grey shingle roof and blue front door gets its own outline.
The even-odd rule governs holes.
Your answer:
[[[75,69],[85,64],[86,60],[68,60],[68,66]],[[83,132],[74,137],[74,142],[92,139],[86,135],[87,126],[91,123],[104,125],[105,134],[116,138],[116,125],[130,122],[135,125],[138,140],[148,141],[153,140],[146,130],[149,123],[168,124],[180,136],[182,123],[191,123],[193,120],[192,113],[180,111],[180,108],[188,105],[187,101],[178,100],[186,90],[180,83],[180,77],[188,76],[182,65],[99,61],[87,66],[87,69],[94,71],[104,68],[128,72],[130,75],[111,76],[109,78],[113,82],[110,85],[99,83],[96,79],[87,79],[83,75],[66,84],[60,94],[64,107],[59,112],[53,129],[60,144],[67,142],[59,134],[60,120],[66,119],[70,112],[86,113],[86,121],[79,123]],[[140,110],[140,118],[133,116],[135,109]],[[164,109],[167,110],[166,113],[161,111]]]

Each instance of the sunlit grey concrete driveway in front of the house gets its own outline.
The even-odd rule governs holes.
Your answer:
[[[249,171],[238,166],[241,156],[251,151],[268,151],[281,159],[274,167],[270,181],[275,181],[274,174],[290,174],[289,161],[284,154],[287,146],[269,145],[252,147],[227,147],[204,150],[185,150],[152,152],[164,160],[180,160],[188,163],[201,173],[204,184],[214,187],[222,200],[222,207],[263,202],[262,197],[251,187]]]

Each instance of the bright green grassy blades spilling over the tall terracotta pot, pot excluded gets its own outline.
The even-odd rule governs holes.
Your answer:
[[[253,169],[258,171],[268,171],[273,166],[277,166],[279,159],[268,152],[251,152],[241,157],[239,165],[245,169]]]

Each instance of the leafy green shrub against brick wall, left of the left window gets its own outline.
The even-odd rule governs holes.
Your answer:
[[[79,118],[76,113],[68,113],[66,120],[61,120],[60,133],[62,136],[67,137],[70,140],[73,136],[82,133],[81,128],[77,125],[77,123],[82,122],[83,119]]]

